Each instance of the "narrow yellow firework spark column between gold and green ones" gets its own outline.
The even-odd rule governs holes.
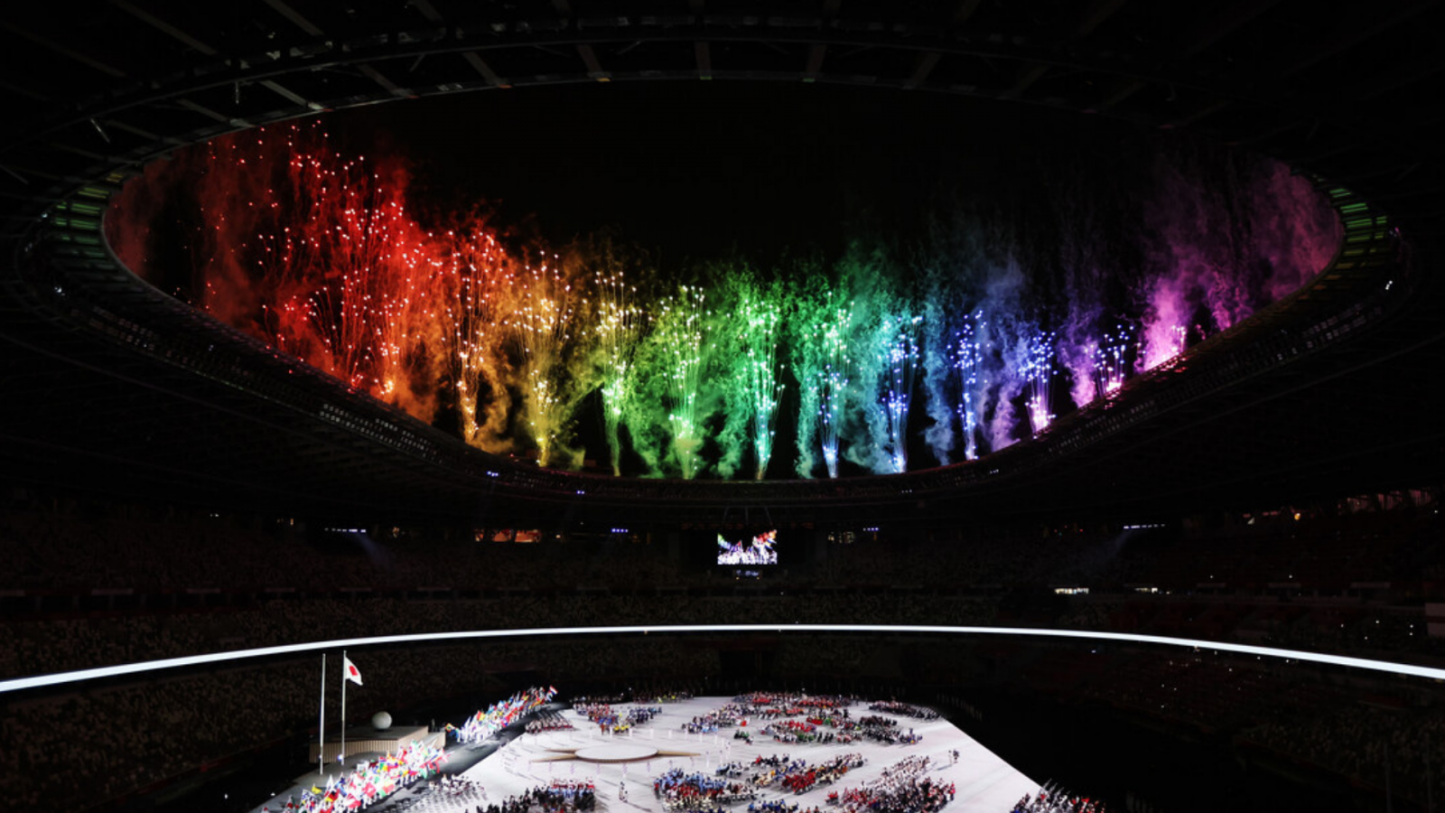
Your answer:
[[[597,339],[603,363],[603,425],[611,454],[613,474],[621,474],[620,428],[634,396],[636,354],[646,311],[634,304],[637,288],[627,282],[620,268],[598,271],[592,278],[597,291]]]

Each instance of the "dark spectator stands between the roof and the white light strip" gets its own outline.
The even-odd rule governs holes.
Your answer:
[[[116,508],[113,514],[124,512]],[[945,619],[1445,657],[1445,639],[1428,635],[1420,603],[1299,596],[1290,587],[1308,583],[1302,574],[1322,570],[1306,567],[1325,556],[1309,544],[1328,538],[1329,550],[1351,550],[1337,540],[1344,535],[1393,550],[1403,547],[1399,540],[1428,537],[1420,532],[1422,519],[1379,519],[1390,532],[1366,532],[1355,527],[1363,521],[1347,524],[1355,537],[1306,527],[1289,544],[1274,527],[1235,529],[1209,541],[1207,563],[1189,540],[1136,550],[1100,532],[1042,534],[1026,544],[1013,537],[1001,544],[863,540],[828,545],[811,567],[773,584],[777,590],[763,592],[737,592],[733,580],[688,569],[656,542],[517,545],[387,529],[380,534],[387,538],[370,548],[329,550],[292,525],[194,515],[173,519],[84,518],[64,511],[0,516],[0,550],[12,564],[0,574],[7,619],[0,625],[0,677],[350,637],[357,628],[410,634],[569,626],[597,618],[634,625],[718,618],[759,623]],[[1394,544],[1379,544],[1376,537]],[[1335,561],[1332,554],[1327,558]],[[1376,558],[1381,557],[1350,558],[1360,567],[1351,579],[1390,577]],[[1188,560],[1194,571],[1169,576],[1182,567],[1176,560]],[[1241,576],[1250,569],[1261,574]],[[1134,577],[1155,586],[1142,593],[1127,582]],[[1220,595],[1220,584],[1246,583],[1276,587]],[[1092,587],[1088,596],[1064,599],[1051,593],[1055,584]],[[685,595],[673,597],[668,590]]]

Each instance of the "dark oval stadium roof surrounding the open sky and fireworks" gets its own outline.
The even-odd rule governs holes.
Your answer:
[[[0,456],[14,482],[114,495],[558,522],[643,508],[659,522],[1153,514],[1438,482],[1442,29],[1439,4],[1420,1],[7,7]],[[126,176],[223,133],[399,98],[653,80],[832,82],[1189,129],[1318,178],[1347,242],[1290,299],[980,463],[721,483],[470,450],[139,282],[100,236]]]

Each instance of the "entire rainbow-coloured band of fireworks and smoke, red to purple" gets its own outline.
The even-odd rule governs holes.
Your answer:
[[[984,457],[1303,285],[1337,244],[1328,207],[1282,166],[1231,171],[1225,191],[1160,172],[1178,216],[1142,207],[1130,252],[1068,223],[1052,250],[959,216],[932,242],[858,239],[805,268],[669,269],[610,240],[549,249],[420,213],[403,163],[293,126],[147,168],[107,231],[147,275],[137,213],[184,188],[198,271],[182,297],[478,448],[614,474],[838,477]]]

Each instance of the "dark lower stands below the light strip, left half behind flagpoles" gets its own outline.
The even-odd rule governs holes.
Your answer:
[[[575,647],[487,644],[353,652],[366,674],[351,687],[353,722],[426,697],[465,697],[487,683],[488,661],[532,664],[559,680],[652,674],[709,674],[717,655],[639,642],[626,652],[603,642]],[[82,810],[201,765],[279,742],[316,725],[321,658],[243,664],[142,683],[10,700],[0,736],[25,744],[0,749],[0,797],[17,809]],[[327,719],[341,719],[340,693],[327,694]],[[429,725],[431,720],[413,720]]]

